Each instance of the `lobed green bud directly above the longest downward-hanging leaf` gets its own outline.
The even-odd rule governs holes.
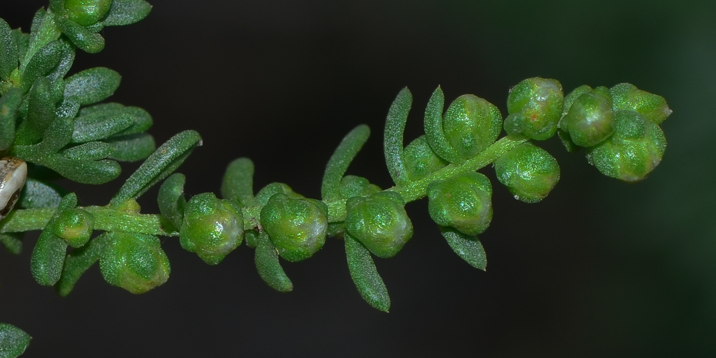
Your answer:
[[[402,196],[392,191],[349,198],[346,231],[375,256],[395,256],[412,237],[412,223],[404,206]]]

